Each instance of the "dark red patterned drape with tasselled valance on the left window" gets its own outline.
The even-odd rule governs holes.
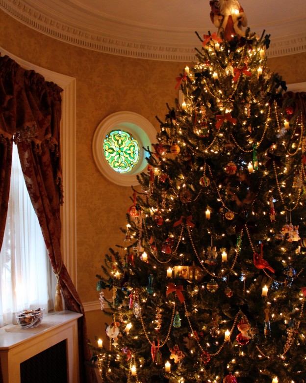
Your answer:
[[[61,255],[62,173],[60,119],[62,89],[34,71],[0,57],[0,245],[9,195],[12,141],[18,147],[26,187],[37,214],[54,273],[58,274],[67,309],[79,319],[80,382],[95,382],[84,309]]]

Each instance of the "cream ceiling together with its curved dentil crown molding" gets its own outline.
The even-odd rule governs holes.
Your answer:
[[[268,56],[306,51],[306,0],[241,0],[251,31],[271,34]],[[20,22],[70,44],[114,55],[193,61],[216,31],[209,0],[0,0]]]

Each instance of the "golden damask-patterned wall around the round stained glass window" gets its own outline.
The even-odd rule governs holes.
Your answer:
[[[104,117],[120,110],[139,113],[158,129],[155,115],[163,119],[166,102],[173,105],[175,77],[186,63],[78,48],[40,34],[3,11],[0,46],[35,65],[77,79],[77,289],[83,302],[97,300],[95,274],[100,273],[108,248],[124,240],[119,227],[126,225],[131,189],[110,183],[98,171],[91,151],[94,131]],[[306,53],[271,58],[268,64],[287,83],[305,82],[305,60]],[[88,319],[93,324],[89,323],[89,335],[100,335],[101,314],[88,313]]]

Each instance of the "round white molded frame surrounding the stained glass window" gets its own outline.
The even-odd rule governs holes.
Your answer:
[[[107,133],[116,129],[126,129],[132,133],[139,142],[140,146],[140,159],[139,163],[133,170],[127,173],[118,173],[107,163],[103,153],[103,141]],[[156,130],[145,117],[140,114],[130,111],[119,111],[110,114],[98,125],[93,141],[92,151],[98,169],[104,177],[110,182],[120,186],[138,185],[137,174],[142,172],[147,166],[146,157],[148,152],[145,152],[143,147],[152,149],[152,142],[156,141]]]

